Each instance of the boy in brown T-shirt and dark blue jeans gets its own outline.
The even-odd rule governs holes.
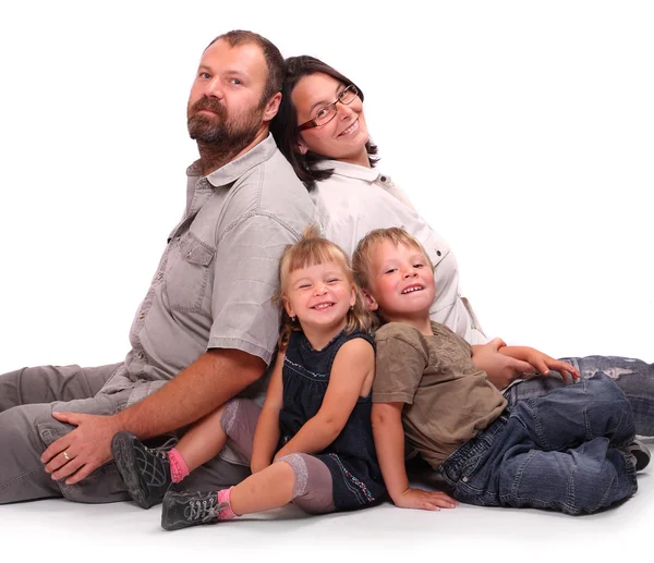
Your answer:
[[[372,231],[359,243],[353,267],[368,308],[386,322],[375,335],[372,418],[396,505],[456,505],[443,492],[409,487],[404,437],[453,498],[471,504],[580,514],[635,493],[635,472],[649,452],[633,442],[631,407],[610,378],[598,372],[508,409],[476,369],[470,344],[431,322],[433,268],[415,238],[397,228]],[[533,348],[502,350],[520,359],[546,358],[547,367],[579,378],[569,364]]]

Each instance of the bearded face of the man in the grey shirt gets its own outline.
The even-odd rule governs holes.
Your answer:
[[[246,146],[262,127],[268,69],[254,44],[219,39],[202,56],[186,108],[189,134],[208,145]]]

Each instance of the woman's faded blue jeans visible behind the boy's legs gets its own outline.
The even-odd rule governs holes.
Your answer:
[[[589,378],[597,371],[604,371],[627,395],[633,411],[635,433],[654,436],[654,364],[617,356],[561,359],[572,364],[584,378]],[[514,405],[524,399],[542,396],[554,389],[564,387],[565,383],[560,376],[554,371],[553,374],[555,375],[536,377],[510,387],[505,392],[509,405]]]

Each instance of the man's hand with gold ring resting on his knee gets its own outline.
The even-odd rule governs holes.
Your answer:
[[[65,484],[74,485],[112,458],[111,439],[121,430],[114,417],[78,413],[52,413],[52,416],[77,427],[51,443],[41,455],[46,473],[51,473],[52,479],[68,477]]]

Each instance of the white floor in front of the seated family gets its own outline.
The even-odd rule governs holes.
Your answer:
[[[650,441],[654,446],[654,441]],[[652,552],[654,475],[639,476],[638,493],[625,504],[591,516],[566,516],[536,510],[459,505],[437,513],[383,504],[366,511],[304,516],[294,507],[215,526],[174,533],[159,526],[160,509],[132,503],[74,504],[45,500],[0,506],[0,546],[21,561],[137,561],[160,555],[184,561],[265,555],[266,561],[335,556],[349,553],[384,558],[429,553],[435,559],[479,555],[484,561],[524,556],[582,556],[581,562],[631,560],[634,550]],[[266,522],[264,522],[266,521]],[[296,551],[302,549],[302,551]],[[646,556],[644,561],[646,561]],[[3,561],[7,561],[3,555]],[[168,560],[170,561],[170,560]]]

